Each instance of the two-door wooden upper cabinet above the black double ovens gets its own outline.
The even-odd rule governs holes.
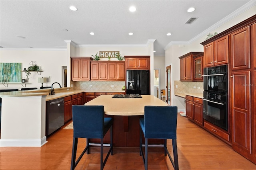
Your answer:
[[[204,67],[228,63],[228,37],[204,45]]]

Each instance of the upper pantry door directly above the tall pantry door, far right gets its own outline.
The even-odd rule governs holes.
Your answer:
[[[231,70],[250,68],[250,27],[231,34]]]

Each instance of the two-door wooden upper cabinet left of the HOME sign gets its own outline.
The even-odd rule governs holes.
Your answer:
[[[90,61],[91,57],[71,58],[71,80],[89,81],[90,80]]]

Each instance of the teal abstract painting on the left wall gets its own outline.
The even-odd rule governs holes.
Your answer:
[[[21,82],[22,63],[0,63],[0,82]]]

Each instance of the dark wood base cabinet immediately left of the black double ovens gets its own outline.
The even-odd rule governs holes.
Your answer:
[[[201,98],[186,95],[186,117],[203,126],[203,101]]]

